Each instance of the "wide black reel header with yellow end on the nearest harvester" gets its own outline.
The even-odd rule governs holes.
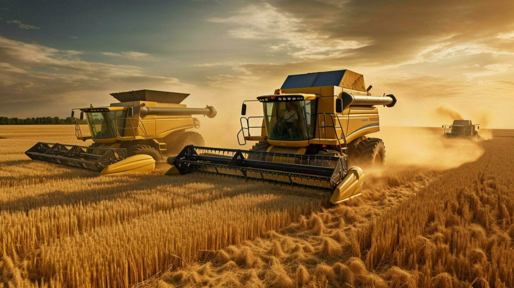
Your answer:
[[[359,195],[364,174],[359,167],[348,169],[348,156],[332,157],[270,153],[250,150],[186,146],[166,175],[202,172],[305,188],[318,194],[332,193],[333,204]]]

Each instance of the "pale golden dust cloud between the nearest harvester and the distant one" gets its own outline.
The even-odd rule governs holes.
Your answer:
[[[413,165],[436,170],[478,159],[484,150],[472,139],[445,138],[442,128],[381,127],[369,135],[382,138],[388,166]]]

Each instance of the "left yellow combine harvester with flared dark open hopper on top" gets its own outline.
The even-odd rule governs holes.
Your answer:
[[[180,104],[189,94],[139,90],[112,93],[119,103],[80,110],[86,115],[90,136],[83,136],[76,122],[75,136],[92,139],[90,146],[38,142],[25,154],[34,160],[80,167],[101,175],[152,171],[161,155],[176,155],[186,145],[205,145],[192,115],[216,116],[212,106],[188,108]],[[71,111],[74,117],[75,111]]]

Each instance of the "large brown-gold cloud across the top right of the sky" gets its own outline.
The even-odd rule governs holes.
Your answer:
[[[490,9],[494,6],[495,9]],[[505,52],[514,2],[266,1],[210,22],[239,39],[264,41],[297,59],[344,57],[402,65],[469,53]]]

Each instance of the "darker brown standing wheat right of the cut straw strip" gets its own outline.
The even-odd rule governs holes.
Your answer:
[[[475,163],[446,172],[358,233],[368,269],[409,271],[415,286],[514,286],[514,141],[483,143]]]

